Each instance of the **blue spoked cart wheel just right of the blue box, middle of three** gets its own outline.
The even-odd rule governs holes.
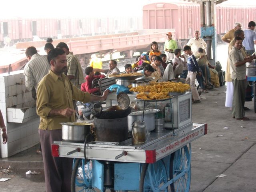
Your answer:
[[[161,189],[162,185],[167,183],[167,181],[167,172],[163,160],[159,160],[153,164],[143,164],[140,174],[139,192],[168,192],[168,186]]]

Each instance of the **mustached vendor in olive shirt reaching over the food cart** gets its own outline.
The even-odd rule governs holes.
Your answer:
[[[44,161],[46,192],[70,192],[72,158],[52,157],[51,145],[62,140],[60,122],[75,122],[73,100],[87,103],[104,101],[102,97],[82,92],[64,75],[67,71],[67,58],[64,50],[55,48],[47,56],[49,73],[38,83],[37,114],[40,116],[39,136]]]

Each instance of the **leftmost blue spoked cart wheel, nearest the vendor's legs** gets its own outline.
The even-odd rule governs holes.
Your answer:
[[[71,175],[71,192],[94,192],[92,188],[92,160],[74,159]]]

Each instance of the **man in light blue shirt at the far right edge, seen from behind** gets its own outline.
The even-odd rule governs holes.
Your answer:
[[[246,54],[252,55],[255,52],[254,44],[256,44],[256,32],[255,29],[255,22],[250,21],[248,23],[248,28],[244,30],[244,40],[243,46],[245,47]]]

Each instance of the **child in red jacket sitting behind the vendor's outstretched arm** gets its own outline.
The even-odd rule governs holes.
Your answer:
[[[92,88],[92,80],[96,79],[96,78],[104,78],[104,75],[94,75],[94,69],[92,67],[86,67],[85,68],[85,74],[86,77],[85,82],[81,84],[81,90],[83,92],[88,92],[90,94],[94,94],[96,92],[98,92],[100,89],[98,87],[96,88]],[[87,119],[90,119],[90,115],[91,115],[91,109],[93,106],[93,102],[88,102],[86,104],[83,104],[84,106],[81,108],[82,110],[78,111],[79,114],[79,119],[80,120],[84,120],[83,119],[83,114]]]

